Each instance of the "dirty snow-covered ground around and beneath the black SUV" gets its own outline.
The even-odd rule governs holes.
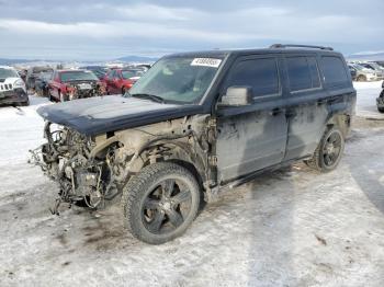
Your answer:
[[[336,171],[264,174],[158,246],[126,233],[118,207],[52,216],[57,187],[26,164],[43,141],[35,110],[48,103],[1,107],[0,286],[383,286],[380,84],[355,87],[361,117]]]

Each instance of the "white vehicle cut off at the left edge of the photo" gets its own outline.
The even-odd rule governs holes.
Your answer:
[[[30,104],[24,81],[9,66],[0,66],[0,105],[3,104]]]

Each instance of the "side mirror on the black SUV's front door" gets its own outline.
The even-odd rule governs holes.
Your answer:
[[[221,106],[241,106],[253,103],[252,88],[234,85],[227,89],[225,95],[222,96]]]

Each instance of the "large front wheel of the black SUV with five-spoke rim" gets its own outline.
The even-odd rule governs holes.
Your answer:
[[[199,205],[196,179],[171,162],[143,168],[128,181],[122,196],[125,227],[149,244],[161,244],[184,233]]]

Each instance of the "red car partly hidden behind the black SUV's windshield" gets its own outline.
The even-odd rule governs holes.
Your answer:
[[[112,69],[104,77],[108,94],[124,94],[142,77],[143,70],[121,68]]]

